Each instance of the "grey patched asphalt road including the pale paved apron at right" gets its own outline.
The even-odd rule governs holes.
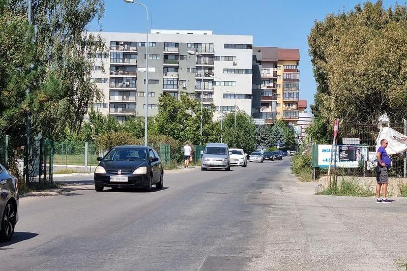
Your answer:
[[[392,270],[407,258],[407,200],[314,195],[289,164],[168,171],[150,193],[83,185],[24,197],[1,269]]]

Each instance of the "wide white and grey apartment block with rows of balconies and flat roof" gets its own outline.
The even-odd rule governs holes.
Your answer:
[[[214,104],[215,118],[219,117],[222,102],[223,111],[239,108],[252,113],[252,36],[151,29],[147,44],[146,34],[141,33],[94,34],[100,35],[109,49],[96,54],[93,80],[105,98],[94,107],[114,115],[119,122],[134,113],[144,116],[145,106],[149,116],[156,115],[158,98],[163,93],[173,97],[186,93],[200,101],[203,91],[203,106]],[[189,50],[196,55],[189,55]]]

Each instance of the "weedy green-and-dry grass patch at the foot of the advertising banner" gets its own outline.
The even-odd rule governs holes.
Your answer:
[[[363,187],[358,184],[354,179],[345,180],[342,179],[339,187],[332,184],[330,187],[322,192],[317,193],[318,195],[333,195],[333,196],[354,196],[354,197],[369,197],[374,196],[370,187]]]

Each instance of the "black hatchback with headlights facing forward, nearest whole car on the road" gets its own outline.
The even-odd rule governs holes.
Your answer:
[[[164,170],[155,149],[147,146],[115,146],[102,158],[95,169],[95,190],[103,187],[163,188]]]

